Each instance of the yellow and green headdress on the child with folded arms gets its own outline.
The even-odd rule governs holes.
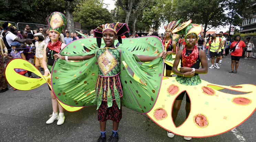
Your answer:
[[[191,22],[192,20],[189,20],[187,22],[180,24],[178,27],[173,29],[172,33],[185,35],[185,38],[186,36],[194,33],[196,34],[196,37],[198,39],[198,35],[202,31],[202,26],[198,24],[191,24]]]

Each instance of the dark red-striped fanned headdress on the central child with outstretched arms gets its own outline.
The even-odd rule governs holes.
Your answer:
[[[127,33],[129,31],[129,28],[126,23],[110,23],[110,24],[103,24],[99,25],[97,28],[95,28],[94,31],[94,37],[97,38],[97,44],[100,48],[101,45],[101,38],[103,36],[103,32],[106,30],[113,31],[118,36],[118,42],[122,43],[121,35],[125,35],[126,37],[129,37],[129,34]]]

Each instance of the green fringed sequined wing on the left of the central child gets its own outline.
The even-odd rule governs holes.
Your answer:
[[[60,52],[63,56],[85,56],[98,50],[96,38],[82,38],[68,44]],[[95,97],[95,85],[98,77],[96,56],[84,61],[66,61],[58,59],[52,69],[52,88],[62,103],[84,107]]]

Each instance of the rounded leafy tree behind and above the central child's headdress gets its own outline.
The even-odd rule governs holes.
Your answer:
[[[80,7],[75,9],[74,21],[81,23],[82,29],[95,29],[98,25],[113,23],[111,13],[103,8],[102,0],[86,0]]]

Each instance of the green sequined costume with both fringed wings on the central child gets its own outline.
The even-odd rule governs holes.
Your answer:
[[[103,40],[101,44],[104,47]],[[116,44],[117,41],[115,42]],[[118,50],[118,52],[110,50]],[[111,54],[106,51],[110,51],[109,53]],[[117,98],[123,95],[120,102],[122,106],[139,113],[147,113],[156,103],[159,94],[163,75],[163,59],[157,58],[151,62],[143,62],[142,64],[138,62],[139,59],[135,55],[158,56],[162,51],[163,46],[161,40],[151,36],[122,39],[122,44],[119,44],[116,49],[99,49],[96,38],[75,40],[68,44],[60,54],[63,56],[95,54],[97,57],[95,56],[84,61],[66,61],[61,59],[55,61],[52,69],[53,92],[62,103],[75,107],[92,105],[98,105],[99,107],[100,100],[104,99],[109,100],[107,101],[109,107],[112,102],[110,100],[116,99],[118,104]],[[100,59],[100,55],[103,53],[108,53],[109,57],[115,56],[119,67],[113,66],[114,60],[111,63],[108,62],[110,64],[108,66],[107,61],[110,59],[104,60],[105,57]],[[119,56],[117,53],[120,53],[119,59],[117,59]],[[99,59],[104,62],[99,63]],[[99,66],[107,67],[108,70]],[[114,68],[112,69],[112,67]],[[105,78],[103,76],[113,76],[118,73],[122,84],[122,95],[117,90],[115,91],[115,86],[113,88],[110,86],[111,89],[114,89],[114,92],[113,90],[107,90],[108,79],[106,79],[106,90],[100,88],[101,85],[105,85]],[[101,79],[103,83],[101,83],[101,80],[97,82],[99,81],[97,79],[98,76],[99,78],[104,78]],[[113,81],[111,78],[109,78],[110,82]],[[115,82],[118,82],[118,80],[115,80]],[[109,97],[108,93],[111,94]],[[98,101],[93,101],[95,97],[96,99],[99,98]]]

